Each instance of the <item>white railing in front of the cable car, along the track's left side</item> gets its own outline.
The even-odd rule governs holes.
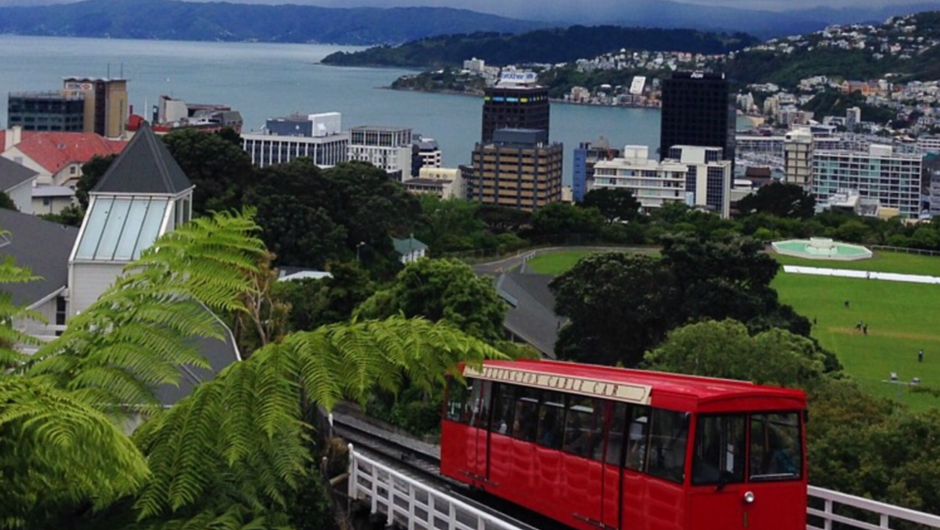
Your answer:
[[[415,530],[522,530],[446,492],[389,468],[349,445],[349,498],[368,500],[389,526]]]

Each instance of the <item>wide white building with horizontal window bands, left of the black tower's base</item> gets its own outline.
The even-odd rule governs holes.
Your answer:
[[[641,210],[649,213],[670,203],[686,202],[688,171],[678,160],[651,159],[645,145],[628,145],[623,148],[623,157],[594,165],[594,189],[628,189]]]

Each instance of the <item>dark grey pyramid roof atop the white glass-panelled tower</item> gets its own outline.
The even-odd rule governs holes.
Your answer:
[[[143,122],[92,193],[177,195],[192,187],[163,141]]]

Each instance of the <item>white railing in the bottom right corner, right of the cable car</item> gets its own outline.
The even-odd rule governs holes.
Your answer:
[[[936,515],[908,510],[907,508],[864,499],[862,497],[846,495],[838,491],[810,486],[809,498],[810,504],[816,504],[813,502],[814,500],[821,500],[823,508],[821,510],[811,506],[806,508],[806,513],[810,516],[810,521],[806,523],[808,530],[832,530],[832,523],[841,523],[862,530],[885,530],[886,528],[891,528],[890,524],[892,521],[898,520],[921,524],[929,528],[940,528],[940,517]],[[837,513],[839,507],[856,508],[857,510],[865,512],[868,518],[872,520],[877,519],[878,524],[840,515]],[[814,526],[810,524],[814,522],[812,521],[813,518],[821,520],[823,525]]]

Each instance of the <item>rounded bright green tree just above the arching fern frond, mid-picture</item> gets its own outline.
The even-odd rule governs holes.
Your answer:
[[[450,322],[465,333],[495,342],[503,336],[506,304],[489,278],[477,276],[455,260],[422,259],[409,263],[392,286],[372,295],[357,310],[362,318],[394,314]]]

